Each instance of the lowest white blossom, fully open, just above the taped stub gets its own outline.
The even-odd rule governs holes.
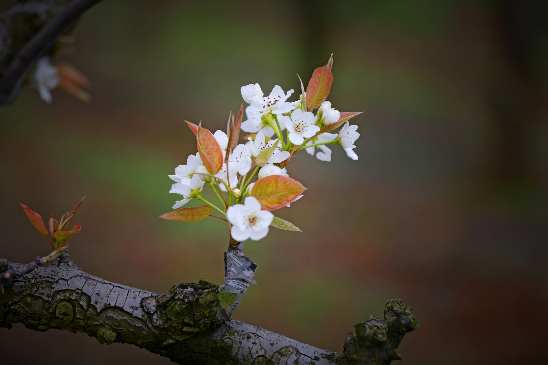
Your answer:
[[[253,196],[248,196],[244,204],[236,204],[226,211],[226,218],[232,223],[230,235],[237,241],[248,238],[258,241],[269,233],[274,215],[261,210],[261,204]]]

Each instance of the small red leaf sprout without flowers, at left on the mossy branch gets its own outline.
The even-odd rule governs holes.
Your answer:
[[[84,197],[85,198],[85,197]],[[32,225],[41,233],[43,234],[46,239],[49,241],[49,244],[53,248],[53,252],[50,253],[48,256],[45,256],[42,258],[42,264],[46,264],[51,260],[54,260],[61,256],[63,252],[66,251],[68,248],[68,240],[75,234],[79,233],[82,225],[81,224],[75,224],[72,228],[68,228],[70,225],[70,222],[72,221],[72,218],[75,216],[76,212],[78,211],[78,208],[82,204],[82,201],[80,200],[78,202],[78,205],[76,208],[72,210],[72,212],[66,212],[60,219],[60,221],[56,221],[56,219],[53,218],[53,216],[49,217],[48,222],[48,228],[45,227],[44,221],[42,217],[35,211],[31,210],[31,208],[27,207],[24,204],[21,204],[21,207],[23,208],[23,211],[25,212],[25,215],[27,216],[28,220],[32,223]]]

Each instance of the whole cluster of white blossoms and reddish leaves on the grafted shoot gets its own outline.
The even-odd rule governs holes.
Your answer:
[[[259,84],[242,86],[242,98],[249,105],[244,108],[242,104],[237,116],[230,113],[226,133],[212,133],[202,123],[185,120],[196,136],[198,153],[169,176],[175,182],[169,192],[183,199],[175,202],[176,211],[161,218],[182,222],[223,219],[229,224],[231,242],[260,240],[269,227],[300,232],[293,223],[271,213],[289,207],[306,190],[288,175],[286,166],[294,154],[304,148],[317,159],[330,161],[327,145],[339,144],[351,159],[358,159],[353,151],[358,126],[350,125],[349,120],[361,112],[339,112],[327,100],[333,84],[332,67],[333,55],[326,65],[315,69],[306,91],[299,77],[301,95],[295,101],[289,101],[293,89],[285,92],[276,85],[265,96]],[[330,133],[340,127],[339,132]],[[241,131],[248,133],[244,143],[238,143]],[[206,183],[212,189],[207,199],[203,195]],[[181,208],[192,199],[207,205]],[[226,218],[214,216],[213,210]]]

